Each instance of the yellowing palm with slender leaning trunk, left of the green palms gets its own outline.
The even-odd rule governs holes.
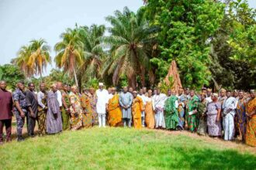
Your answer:
[[[70,76],[74,74],[74,80],[78,86],[76,69],[82,62],[84,43],[81,41],[78,28],[67,29],[61,34],[61,39],[61,42],[57,42],[54,46],[57,52],[56,65],[67,71]]]

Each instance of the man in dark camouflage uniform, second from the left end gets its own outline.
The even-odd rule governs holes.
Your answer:
[[[17,88],[12,93],[12,98],[15,104],[14,113],[16,115],[18,141],[24,141],[24,138],[22,138],[22,128],[24,126],[25,117],[28,113],[28,106],[24,93],[23,81],[17,83]]]

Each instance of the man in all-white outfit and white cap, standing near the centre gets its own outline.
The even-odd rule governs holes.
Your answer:
[[[106,105],[109,102],[108,90],[103,88],[104,84],[99,83],[99,89],[96,90],[97,104],[96,110],[99,117],[99,128],[106,127]]]

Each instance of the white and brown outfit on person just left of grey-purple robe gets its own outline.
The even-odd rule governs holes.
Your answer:
[[[37,93],[38,100],[38,113],[37,113],[37,121],[38,121],[38,133],[39,135],[46,134],[46,124],[45,120],[47,117],[47,93],[43,93],[40,91]]]

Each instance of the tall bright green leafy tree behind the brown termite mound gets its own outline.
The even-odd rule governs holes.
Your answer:
[[[209,38],[223,19],[223,4],[213,1],[147,1],[147,13],[160,31],[161,56],[154,60],[170,65],[175,59],[185,87],[200,88],[210,80]],[[160,72],[165,72],[166,69]]]

